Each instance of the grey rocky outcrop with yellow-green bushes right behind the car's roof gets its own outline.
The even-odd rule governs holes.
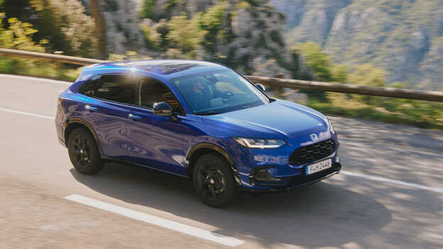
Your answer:
[[[268,1],[143,1],[101,2],[109,52],[211,60],[245,74],[310,77],[285,45],[283,14]]]

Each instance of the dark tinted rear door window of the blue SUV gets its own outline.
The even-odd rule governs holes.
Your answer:
[[[124,104],[136,104],[136,84],[124,74],[102,75],[95,96]]]

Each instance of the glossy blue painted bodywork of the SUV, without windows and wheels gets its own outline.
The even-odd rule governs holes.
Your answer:
[[[319,141],[334,140],[336,150],[321,160],[332,158],[333,162],[337,162],[339,141],[337,134],[329,131],[329,121],[318,111],[300,104],[277,99],[224,114],[192,114],[170,79],[221,69],[227,68],[192,60],[106,62],[84,67],[77,81],[60,94],[55,118],[58,137],[66,143],[65,130],[70,120],[82,120],[89,124],[92,133],[97,134],[104,157],[146,165],[184,177],[192,177],[187,170],[187,167],[192,167],[187,162],[194,151],[192,148],[202,144],[214,145],[234,163],[232,167],[239,172],[241,187],[250,191],[274,189],[251,183],[251,172],[256,167],[268,167],[273,177],[304,175],[306,165],[289,165],[289,156],[297,148],[318,143],[312,141],[312,134],[316,134]],[[185,114],[175,115],[175,118],[155,116],[151,109],[141,106],[104,101],[78,93],[82,84],[94,75],[110,73],[160,80],[176,96]],[[87,109],[87,106],[95,109]],[[138,118],[129,118],[129,114]],[[234,142],[233,137],[280,139],[286,143],[277,149],[249,149]],[[311,163],[314,162],[308,164]]]

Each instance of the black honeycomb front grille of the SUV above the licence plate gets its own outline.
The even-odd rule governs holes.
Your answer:
[[[335,151],[335,143],[332,139],[307,145],[295,150],[289,157],[290,165],[304,165],[331,155]]]

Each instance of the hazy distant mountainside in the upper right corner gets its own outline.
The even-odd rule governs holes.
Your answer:
[[[420,89],[443,84],[442,0],[271,0],[288,16],[289,46],[314,41],[334,60],[371,63],[389,82]]]

